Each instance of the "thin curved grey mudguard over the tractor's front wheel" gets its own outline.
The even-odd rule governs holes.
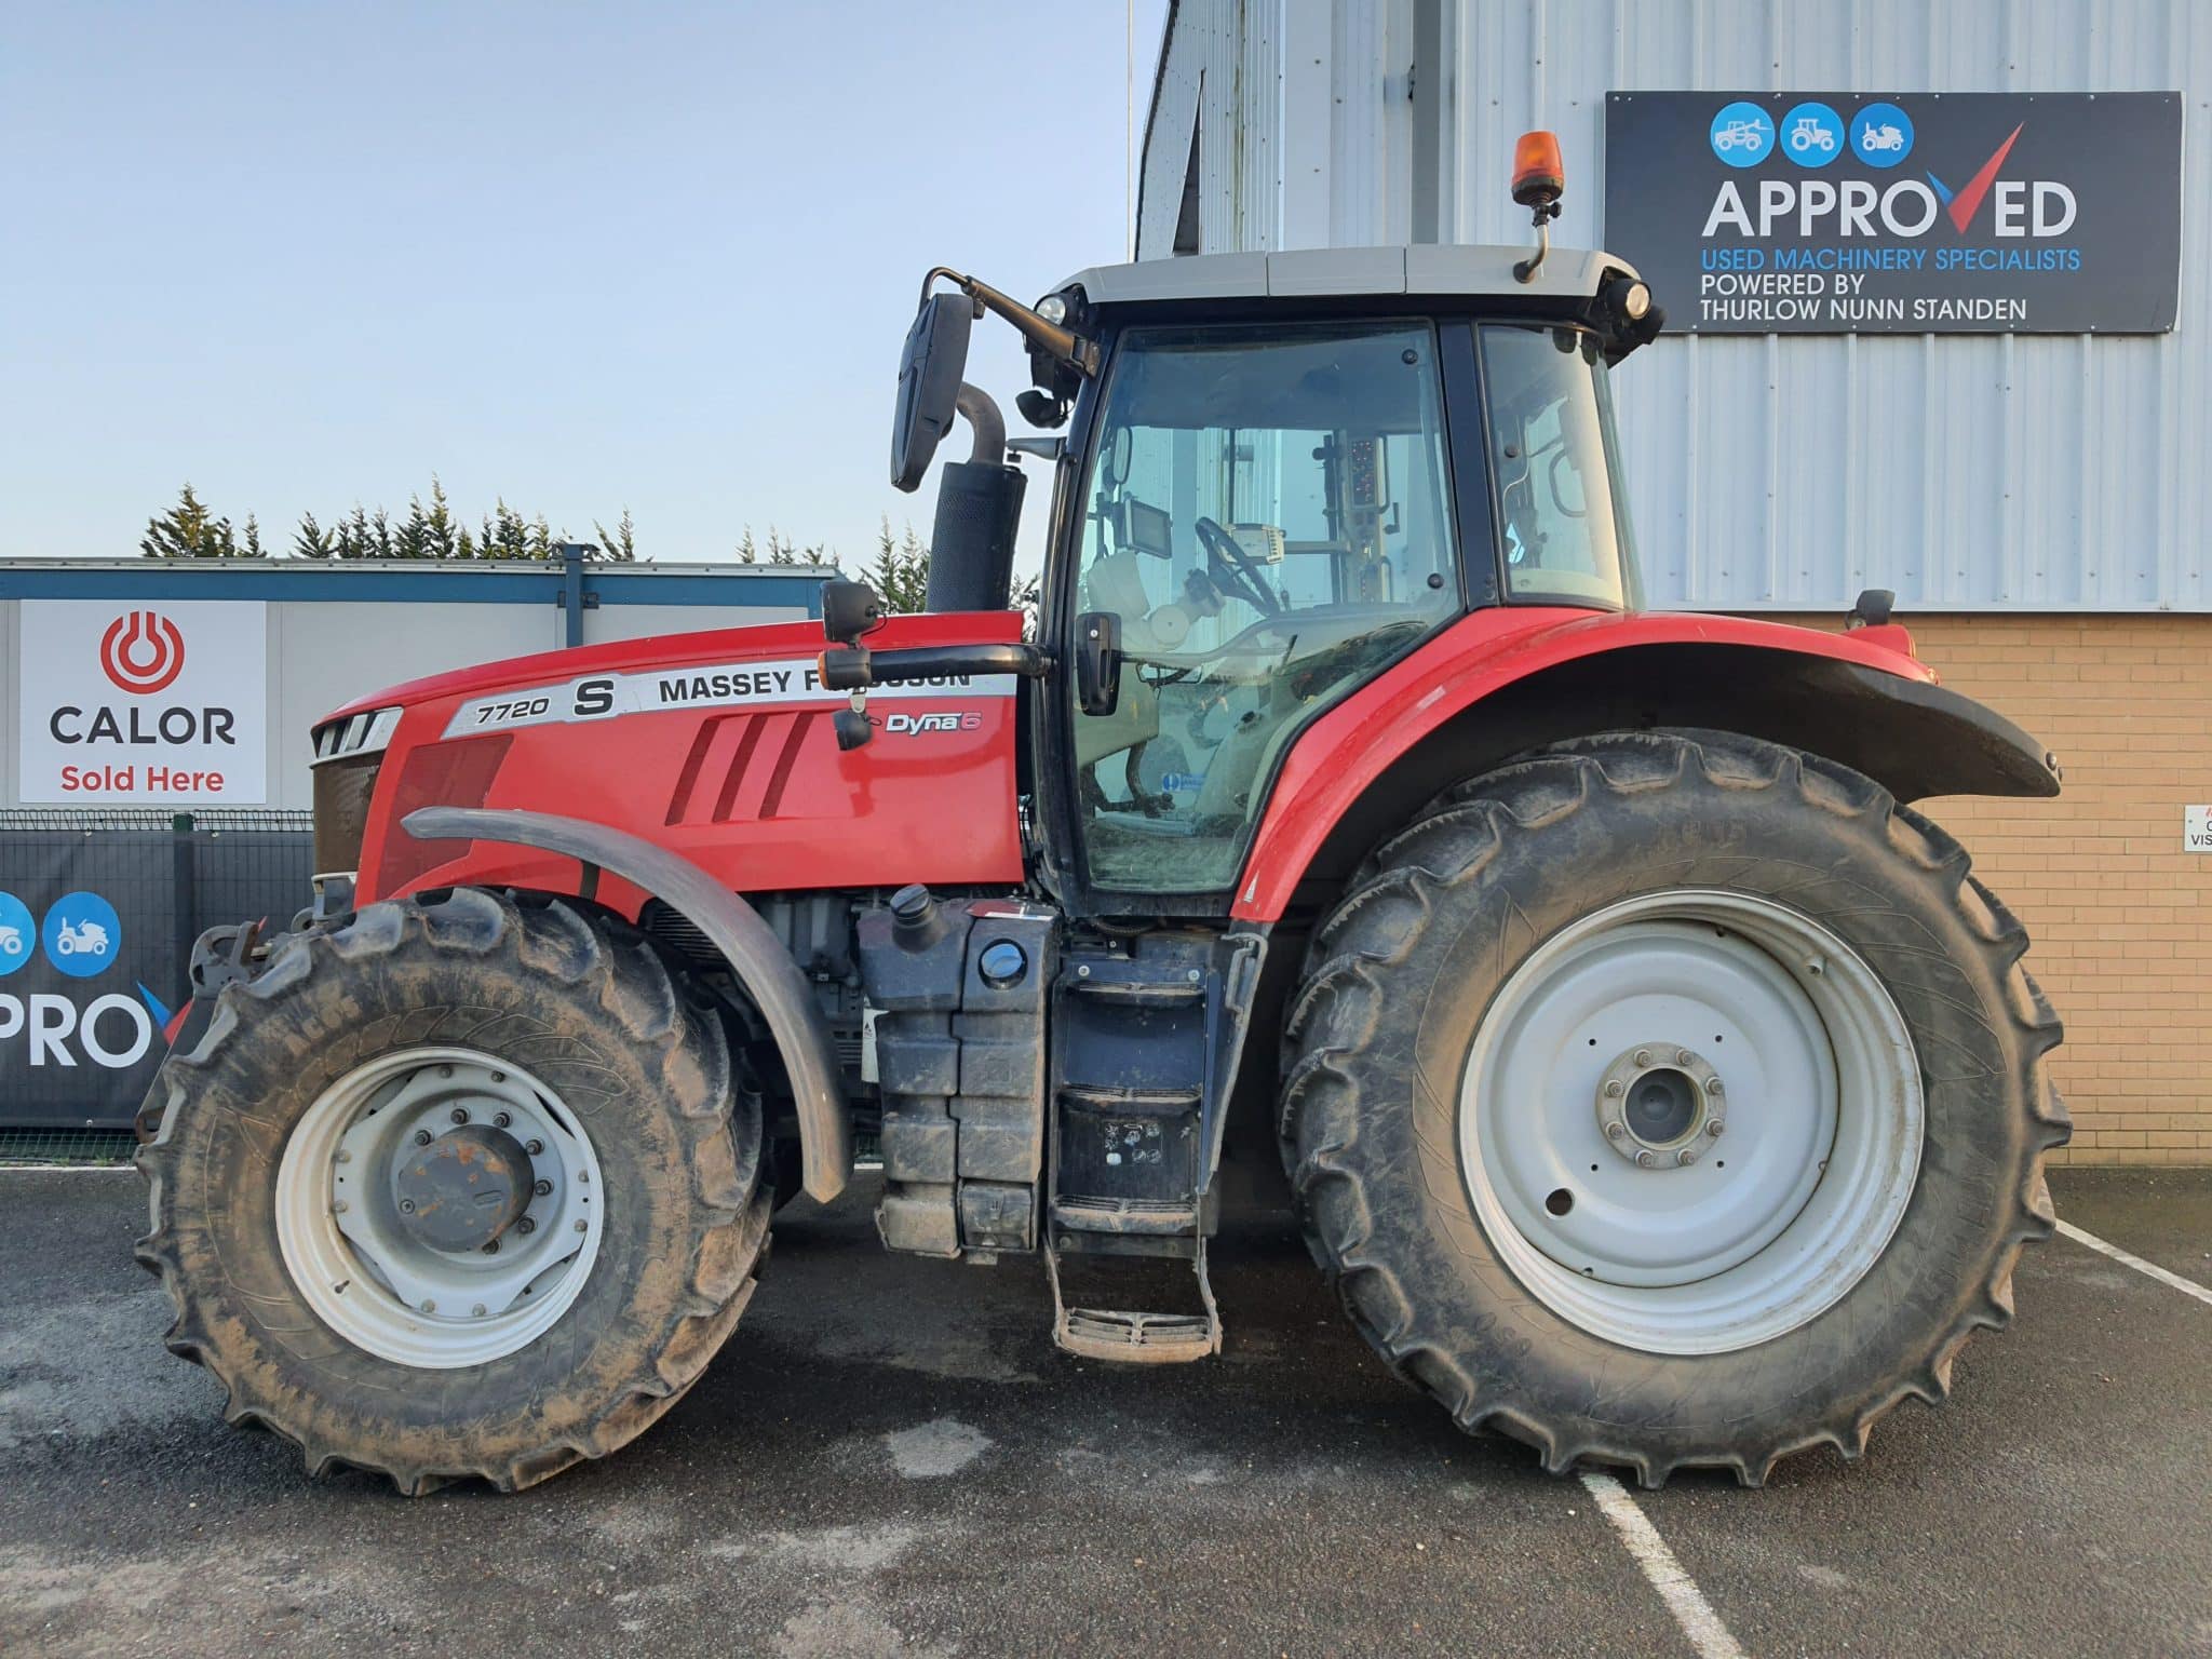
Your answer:
[[[783,940],[761,914],[688,858],[624,830],[549,812],[418,807],[405,818],[418,841],[495,841],[604,869],[690,920],[728,960],[761,1011],[792,1079],[807,1197],[827,1203],[852,1179],[852,1117],[838,1088],[830,1026]]]

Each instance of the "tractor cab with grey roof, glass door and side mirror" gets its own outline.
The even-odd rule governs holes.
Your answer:
[[[931,272],[894,482],[956,411],[975,429],[931,608],[1009,604],[1022,473],[960,380],[984,312],[1029,338],[1022,414],[1064,429],[1015,449],[1055,467],[1037,655],[1066,672],[1031,752],[1040,874],[1082,909],[1228,909],[1298,734],[1471,611],[1637,606],[1606,374],[1659,312],[1608,254],[1214,254],[1084,270],[1035,307]]]

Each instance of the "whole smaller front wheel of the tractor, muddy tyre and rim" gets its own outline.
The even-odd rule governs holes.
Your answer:
[[[157,1084],[139,1259],[232,1422],[422,1493],[659,1418],[768,1241],[759,1095],[639,936],[458,889],[279,940]]]

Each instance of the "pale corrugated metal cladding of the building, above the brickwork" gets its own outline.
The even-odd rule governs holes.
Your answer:
[[[1436,69],[1416,62],[1429,2],[1179,0],[1139,250],[1172,246],[1199,69],[1206,252],[1407,239],[1431,91],[1438,237],[1513,243],[1504,181],[1531,126],[1566,146],[1559,239],[1604,241],[1608,91],[2181,91],[2174,334],[1666,338],[1619,400],[1655,604],[1834,608],[1887,586],[1913,608],[2212,611],[2212,2],[1442,0]],[[1325,164],[1285,173],[1316,124]]]

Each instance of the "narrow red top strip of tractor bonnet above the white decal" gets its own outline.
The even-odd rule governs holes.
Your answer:
[[[927,617],[889,617],[867,644],[889,646],[960,646],[995,644],[1022,637],[1020,611],[956,611]],[[442,675],[407,679],[398,686],[356,697],[330,710],[319,726],[372,708],[427,703],[438,697],[469,697],[507,686],[535,686],[549,679],[575,679],[593,672],[635,668],[677,668],[706,661],[748,661],[754,657],[812,657],[827,641],[818,622],[761,622],[752,628],[712,628],[708,633],[659,633],[644,639],[608,639],[599,646],[540,650],[529,657],[502,657],[473,668],[449,668]]]

